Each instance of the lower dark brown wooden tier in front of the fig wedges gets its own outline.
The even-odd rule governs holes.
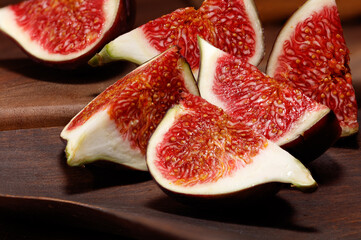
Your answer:
[[[315,193],[285,189],[251,206],[199,208],[169,198],[145,172],[67,166],[60,131],[0,132],[0,209],[137,239],[361,237],[360,135],[309,165]]]

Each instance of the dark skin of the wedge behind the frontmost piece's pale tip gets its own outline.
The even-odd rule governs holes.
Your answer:
[[[282,145],[281,148],[307,164],[325,153],[340,138],[341,132],[336,115],[330,111],[302,136]]]

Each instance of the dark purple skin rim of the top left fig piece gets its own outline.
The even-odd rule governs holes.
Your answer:
[[[73,70],[83,67],[88,67],[87,62],[89,59],[97,53],[105,44],[119,35],[130,31],[135,23],[135,1],[134,0],[120,0],[117,17],[114,20],[112,27],[104,33],[102,39],[93,47],[90,51],[85,52],[77,58],[66,60],[66,61],[48,61],[37,57],[34,57],[31,53],[26,51],[22,45],[15,39],[10,37],[7,33],[1,31],[4,35],[10,38],[30,59],[33,61],[64,70]]]

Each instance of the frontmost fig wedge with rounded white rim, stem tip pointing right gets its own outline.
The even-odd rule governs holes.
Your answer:
[[[241,198],[269,183],[317,185],[292,155],[205,99],[183,94],[149,140],[146,160],[161,188],[194,199]]]

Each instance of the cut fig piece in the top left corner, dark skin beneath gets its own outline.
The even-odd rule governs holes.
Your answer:
[[[0,30],[37,62],[87,66],[107,42],[129,31],[133,0],[27,0],[0,9]]]

